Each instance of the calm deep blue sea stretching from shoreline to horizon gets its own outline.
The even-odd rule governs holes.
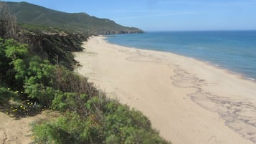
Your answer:
[[[113,44],[193,57],[256,80],[256,31],[118,34]]]

